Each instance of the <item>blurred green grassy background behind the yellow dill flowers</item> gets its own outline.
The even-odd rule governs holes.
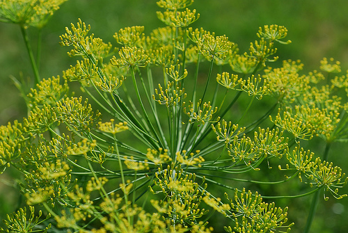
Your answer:
[[[279,61],[300,59],[305,64],[305,70],[309,71],[318,69],[323,57],[333,57],[341,62],[342,70],[348,68],[347,0],[196,0],[190,8],[196,8],[200,13],[200,19],[193,27],[202,26],[216,35],[227,35],[239,45],[240,51],[246,51],[250,42],[257,39],[255,34],[259,26],[278,24],[287,27],[287,39],[292,40],[290,45],[278,45]],[[65,33],[65,26],[76,24],[78,18],[91,25],[91,31],[96,37],[116,45],[112,35],[125,26],[145,26],[145,33],[163,26],[156,17],[157,10],[161,9],[157,7],[156,1],[145,0],[70,0],[64,3],[43,31],[41,77],[61,75],[70,64],[74,64],[73,59],[66,54],[68,50],[58,45],[58,36]],[[37,30],[29,29],[29,34],[35,49]],[[24,79],[33,77],[17,25],[0,23],[0,67],[0,124],[6,124],[26,115],[24,101],[10,80],[10,75],[17,79],[21,75]],[[321,140],[310,141],[317,147],[318,153],[323,150],[322,143]],[[335,144],[329,159],[348,171],[347,156],[347,145]],[[10,172],[1,175],[0,219],[5,213],[12,212],[17,202],[10,185]],[[348,193],[347,187],[342,191]],[[290,222],[296,223],[292,232],[301,232],[310,199],[278,202],[281,207],[290,206]],[[347,216],[348,198],[330,198],[328,202],[320,200],[312,232],[347,232]]]

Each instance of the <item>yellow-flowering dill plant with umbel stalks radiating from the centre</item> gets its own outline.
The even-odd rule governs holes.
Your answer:
[[[20,20],[8,10],[40,3],[3,1],[1,19],[41,26],[47,17],[38,10]],[[332,143],[348,140],[348,76],[332,76],[340,63],[324,58],[310,74],[300,74],[299,61],[271,67],[277,43],[290,44],[284,26],[260,27],[241,53],[226,35],[191,27],[200,16],[192,3],[158,1],[165,26],[149,35],[143,26],[120,29],[117,49],[79,19],[61,35],[80,59],[62,77],[41,80],[28,47],[36,80],[25,97],[29,115],[0,127],[0,164],[22,173],[31,214],[24,207],[8,215],[2,230],[212,232],[217,212],[226,232],[290,232],[288,208],[264,199],[313,195],[308,231],[320,193],[346,196],[345,173],[328,161]],[[73,81],[81,96],[70,91]],[[274,104],[254,111],[262,97]],[[301,147],[314,136],[326,143],[323,158]],[[278,180],[255,179],[264,164],[281,164]],[[244,187],[296,177],[306,191],[262,196]]]

